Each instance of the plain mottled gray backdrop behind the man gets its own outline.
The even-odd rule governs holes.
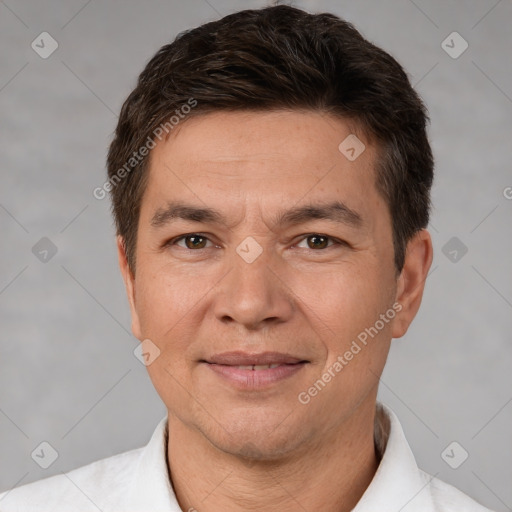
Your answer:
[[[0,2],[0,490],[141,446],[165,415],[133,355],[109,203],[92,191],[117,112],[156,50],[266,4]],[[429,106],[435,261],[380,396],[423,469],[512,510],[512,3],[295,5],[353,22],[404,65]],[[43,31],[59,44],[47,59],[31,48]],[[441,46],[453,31],[469,44],[456,59]],[[58,251],[46,263],[32,252],[42,237]],[[454,247],[443,253],[452,237],[468,249],[461,257],[454,246],[455,262]],[[42,441],[59,454],[46,470],[31,458]],[[441,457],[452,441],[469,453],[458,469]]]

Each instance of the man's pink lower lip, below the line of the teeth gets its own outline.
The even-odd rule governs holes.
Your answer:
[[[236,366],[206,363],[217,375],[242,389],[258,389],[280,382],[295,375],[306,363],[284,364],[266,370],[242,370]]]

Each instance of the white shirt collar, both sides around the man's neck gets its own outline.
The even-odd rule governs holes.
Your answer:
[[[127,502],[134,510],[181,512],[169,479],[167,439],[165,416],[142,451],[133,473]],[[421,477],[398,418],[380,403],[375,413],[375,446],[381,460],[353,512],[434,510],[429,480]]]

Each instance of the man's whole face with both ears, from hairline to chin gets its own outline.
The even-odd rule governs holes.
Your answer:
[[[132,328],[160,350],[169,421],[225,452],[291,453],[373,404],[419,306],[428,234],[397,276],[376,148],[339,149],[353,133],[313,112],[213,113],[152,151],[135,275],[119,240]]]

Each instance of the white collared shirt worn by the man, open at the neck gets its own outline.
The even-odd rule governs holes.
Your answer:
[[[396,415],[377,405],[382,458],[352,512],[490,512],[418,469]],[[167,470],[167,417],[143,447],[0,494],[1,512],[181,512]]]

